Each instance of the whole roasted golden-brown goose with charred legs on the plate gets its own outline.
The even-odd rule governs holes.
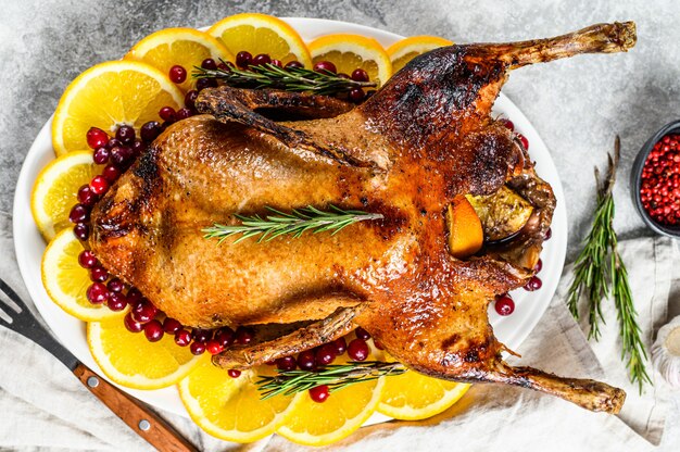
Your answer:
[[[96,205],[90,246],[111,273],[185,325],[289,326],[275,337],[263,327],[256,343],[214,356],[219,366],[270,361],[358,325],[417,372],[616,413],[620,389],[501,357],[488,304],[532,275],[555,199],[490,111],[509,70],[634,42],[634,24],[615,23],[554,39],[441,48],[355,109],[318,96],[206,89],[197,102],[206,114],[171,126]],[[448,205],[505,189],[530,204],[526,224],[509,240],[453,258]],[[331,204],[383,218],[266,243],[219,244],[201,231],[265,206]]]

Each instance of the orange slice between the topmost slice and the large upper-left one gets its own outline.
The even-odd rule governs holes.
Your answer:
[[[178,85],[184,91],[196,86],[193,66],[205,59],[234,62],[234,55],[217,39],[193,28],[165,28],[147,36],[130,49],[124,60],[141,61],[168,74],[175,64],[187,71],[187,79]]]

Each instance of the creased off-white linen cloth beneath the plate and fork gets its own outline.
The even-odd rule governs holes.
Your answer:
[[[639,322],[647,346],[665,321],[669,292],[680,287],[672,268],[680,263],[677,246],[666,238],[620,242],[631,278]],[[9,215],[0,213],[0,275],[30,302],[18,275]],[[620,361],[616,312],[603,303],[607,321],[599,342],[588,342],[587,325],[577,324],[565,306],[571,267],[557,296],[515,360],[555,374],[605,380],[628,392],[619,416],[591,413],[533,391],[475,385],[452,409],[419,423],[390,422],[360,429],[332,450],[643,451],[658,443],[664,428],[664,400],[669,386],[648,366],[655,386],[640,395]],[[32,281],[30,284],[40,284]],[[582,329],[583,328],[583,329]],[[502,339],[502,338],[501,338]],[[11,450],[150,450],[123,422],[91,395],[70,372],[29,340],[0,328],[0,448]],[[189,419],[160,413],[199,449],[206,451],[299,450],[274,436],[249,445],[230,444],[203,434]]]

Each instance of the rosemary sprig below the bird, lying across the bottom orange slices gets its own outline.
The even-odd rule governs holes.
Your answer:
[[[347,364],[330,364],[318,372],[285,371],[274,377],[261,375],[255,385],[261,392],[260,398],[266,400],[278,394],[291,395],[320,385],[327,385],[329,392],[335,392],[357,382],[404,372],[406,367],[398,362],[350,361]]]

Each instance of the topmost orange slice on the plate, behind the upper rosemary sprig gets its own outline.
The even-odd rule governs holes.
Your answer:
[[[312,59],[304,41],[290,25],[280,18],[257,13],[225,17],[210,27],[214,36],[232,53],[245,50],[253,56],[266,53],[284,64],[297,60],[312,67]]]

